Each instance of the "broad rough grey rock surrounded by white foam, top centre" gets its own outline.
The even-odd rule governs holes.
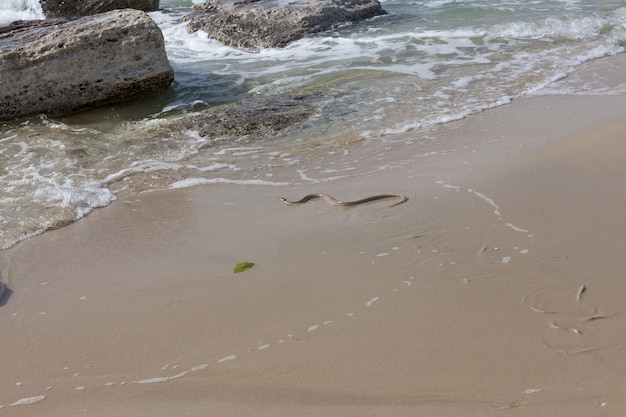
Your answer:
[[[203,30],[226,45],[259,50],[385,13],[378,0],[215,0],[194,6],[184,20],[190,32]]]

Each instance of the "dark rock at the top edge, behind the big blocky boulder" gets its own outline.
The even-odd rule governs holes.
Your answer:
[[[159,0],[40,0],[46,16],[79,17],[110,12],[116,9],[136,9],[144,12],[159,10]]]

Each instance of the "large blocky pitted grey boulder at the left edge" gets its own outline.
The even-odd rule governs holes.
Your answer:
[[[174,80],[159,27],[138,10],[13,27],[0,28],[0,120],[69,114]]]

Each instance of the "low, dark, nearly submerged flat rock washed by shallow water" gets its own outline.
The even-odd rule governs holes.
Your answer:
[[[273,95],[241,100],[159,124],[151,136],[195,131],[215,140],[237,138],[256,140],[279,134],[303,123],[314,114],[322,101],[321,94]]]

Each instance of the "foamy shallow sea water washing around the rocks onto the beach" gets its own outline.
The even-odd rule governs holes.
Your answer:
[[[170,91],[72,117],[0,123],[0,248],[124,191],[315,181],[298,169],[287,182],[273,172],[550,90],[581,63],[623,52],[626,42],[621,0],[384,0],[384,16],[250,52],[188,33],[180,19],[193,3],[161,0],[150,13],[176,73]],[[34,0],[0,5],[0,24],[40,17]],[[185,113],[308,91],[322,92],[319,109],[274,138],[216,143],[193,131],[145,134]],[[609,93],[601,85],[567,91],[590,92]]]

